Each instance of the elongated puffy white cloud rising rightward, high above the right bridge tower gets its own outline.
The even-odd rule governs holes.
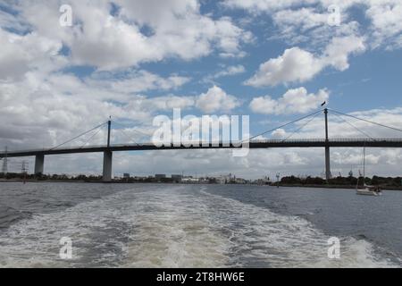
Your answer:
[[[364,51],[364,39],[354,36],[333,38],[321,56],[299,47],[292,47],[283,55],[262,63],[255,75],[245,84],[253,87],[275,86],[312,80],[326,67],[339,71],[348,69],[348,56]]]

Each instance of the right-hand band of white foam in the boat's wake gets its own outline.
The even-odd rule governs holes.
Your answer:
[[[311,223],[297,216],[274,214],[269,210],[247,205],[238,200],[222,198],[203,191],[205,196],[214,197],[222,207],[221,227],[227,227],[230,218],[240,221],[242,227],[230,226],[232,241],[236,247],[232,252],[240,257],[244,266],[272,267],[388,267],[387,259],[373,255],[373,245],[365,240],[340,238],[340,259],[328,258],[329,236],[314,228]],[[219,206],[218,205],[218,206]],[[218,207],[219,209],[219,207]],[[218,222],[217,222],[218,223]]]

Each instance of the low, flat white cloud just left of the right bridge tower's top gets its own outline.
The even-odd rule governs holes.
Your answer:
[[[320,89],[316,94],[308,94],[306,88],[289,89],[282,97],[255,97],[250,108],[255,114],[306,114],[316,110],[329,99],[329,93]]]

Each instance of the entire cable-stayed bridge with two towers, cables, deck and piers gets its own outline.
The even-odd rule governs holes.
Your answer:
[[[356,120],[368,122],[382,128],[387,128],[390,130],[397,130],[402,132],[402,130],[390,127],[385,124],[381,124],[378,122],[371,122],[362,118],[358,118],[354,115],[343,114],[337,112],[335,110],[331,110],[333,114],[337,116],[345,116],[355,118]],[[306,125],[314,120],[314,118],[318,114],[324,114],[325,118],[325,138],[324,139],[289,139],[293,134],[291,134],[287,139],[258,139],[260,136],[263,136],[266,133],[270,133],[274,130],[281,129],[283,127],[289,126],[290,124],[300,122],[302,120],[306,120],[311,117],[309,121],[307,121],[300,128],[295,130],[293,133],[303,129]],[[254,148],[283,148],[283,147],[322,147],[325,150],[325,175],[326,179],[331,179],[331,156],[330,149],[331,147],[402,147],[402,138],[401,139],[374,139],[369,136],[363,130],[359,130],[355,125],[348,122],[349,125],[356,128],[360,133],[364,134],[364,139],[330,139],[329,138],[329,129],[328,129],[328,113],[329,109],[325,108],[323,110],[317,111],[314,114],[308,114],[302,118],[298,118],[293,122],[288,122],[283,124],[277,128],[272,130],[264,131],[254,137],[251,137],[247,140],[248,147],[251,149]],[[345,121],[342,118],[343,121]],[[347,122],[347,121],[345,121]],[[82,135],[87,134],[89,131],[96,130],[99,127],[103,126],[107,123],[108,132],[107,132],[107,144],[100,146],[81,146],[81,147],[62,147],[63,145],[70,143],[74,139],[80,138]],[[110,134],[111,134],[111,125],[112,122],[109,120],[96,126],[96,128],[92,130],[88,130],[79,136],[70,139],[63,144],[60,144],[57,147],[52,148],[43,148],[43,149],[31,149],[31,150],[15,150],[15,151],[5,151],[0,152],[0,159],[3,158],[4,162],[8,157],[22,157],[22,156],[35,156],[35,174],[41,174],[44,171],[45,164],[45,156],[49,155],[62,155],[62,154],[78,154],[78,153],[103,153],[104,154],[104,164],[103,164],[103,180],[105,182],[112,181],[112,159],[113,152],[119,151],[147,151],[147,150],[178,150],[178,149],[212,149],[212,148],[221,148],[221,149],[235,149],[242,147],[239,143],[242,142],[200,142],[200,144],[192,144],[188,146],[187,144],[165,144],[161,147],[155,146],[154,143],[132,143],[132,144],[110,144]]]

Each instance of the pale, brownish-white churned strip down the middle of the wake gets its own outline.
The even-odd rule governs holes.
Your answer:
[[[230,241],[192,195],[160,193],[134,204],[136,229],[124,266],[219,267],[227,264]],[[146,209],[149,209],[146,211]]]

